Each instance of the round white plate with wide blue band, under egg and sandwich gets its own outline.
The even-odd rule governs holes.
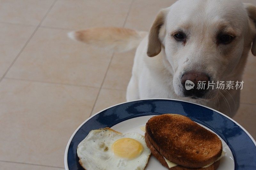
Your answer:
[[[138,132],[154,115],[175,113],[188,116],[206,129],[217,134],[226,152],[220,159],[218,170],[256,170],[256,143],[252,136],[237,122],[209,107],[181,100],[150,99],[121,103],[108,107],[83,122],[68,141],[65,151],[65,169],[82,170],[76,154],[77,145],[93,129],[110,127],[116,131]],[[153,156],[147,170],[166,170]]]

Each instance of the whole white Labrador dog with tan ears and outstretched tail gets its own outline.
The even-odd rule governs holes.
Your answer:
[[[128,101],[180,99],[233,116],[239,107],[239,89],[196,86],[242,82],[249,50],[256,55],[256,7],[236,0],[179,0],[158,13],[149,33],[92,28],[69,36],[117,52],[138,47]],[[186,80],[195,87],[186,90]]]

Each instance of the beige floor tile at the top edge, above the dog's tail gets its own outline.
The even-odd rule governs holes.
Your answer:
[[[130,4],[131,0],[61,0],[54,5],[42,25],[73,29],[122,27]]]

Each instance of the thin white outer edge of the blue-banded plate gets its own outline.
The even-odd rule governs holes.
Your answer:
[[[110,107],[107,107],[107,108],[105,108],[105,109],[100,110],[100,111],[97,112],[96,114],[91,115],[88,119],[86,119],[83,123],[81,123],[78,128],[76,128],[76,130],[73,132],[72,136],[69,138],[68,144],[67,144],[66,149],[65,149],[65,154],[64,154],[64,168],[65,168],[65,170],[69,170],[69,168],[68,168],[68,148],[69,148],[69,145],[70,145],[70,143],[71,143],[73,137],[75,136],[76,132],[81,128],[81,126],[84,125],[85,122],[87,122],[88,120],[90,120],[93,116],[98,115],[99,113],[101,113],[101,112],[103,112],[104,110],[107,110],[107,109],[109,109],[109,108],[111,108],[111,107],[115,107],[115,106],[118,106],[118,105],[121,105],[121,104],[124,104],[124,103],[129,103],[129,102],[134,102],[134,101],[140,101],[140,100],[175,100],[175,101],[182,101],[182,102],[186,102],[186,103],[192,103],[192,104],[195,104],[195,105],[198,105],[198,106],[202,106],[202,107],[208,108],[208,109],[210,109],[210,110],[213,110],[213,111],[219,113],[220,115],[225,116],[226,118],[228,118],[228,119],[231,120],[232,122],[236,123],[236,125],[238,125],[241,129],[243,129],[244,132],[251,138],[252,142],[253,142],[254,145],[256,146],[256,142],[255,142],[254,138],[251,136],[251,134],[250,134],[246,129],[244,129],[243,126],[241,126],[239,123],[237,123],[234,119],[228,117],[227,115],[225,115],[225,114],[223,114],[223,113],[219,112],[218,110],[215,110],[215,109],[213,109],[213,108],[211,108],[211,107],[207,107],[207,106],[204,106],[204,105],[201,105],[201,104],[198,104],[198,103],[194,103],[194,102],[190,102],[190,101],[178,100],[178,99],[152,98],[152,99],[131,100],[131,101],[125,101],[125,102],[122,102],[122,103],[118,103],[118,104],[115,104],[115,105],[113,105],[113,106],[110,106]]]

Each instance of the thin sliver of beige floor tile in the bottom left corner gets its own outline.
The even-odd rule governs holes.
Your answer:
[[[9,162],[0,162],[0,167],[3,170],[63,170],[62,168],[55,167],[47,167],[47,166],[36,166],[36,165],[27,165],[27,164],[17,164],[17,163],[9,163]]]

